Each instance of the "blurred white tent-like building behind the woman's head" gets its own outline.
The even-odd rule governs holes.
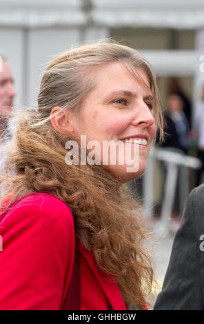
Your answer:
[[[201,76],[202,30],[203,0],[0,0],[0,53],[14,74],[16,107],[35,105],[41,73],[53,55],[107,37],[150,61],[164,105],[170,77],[180,78],[192,97]]]

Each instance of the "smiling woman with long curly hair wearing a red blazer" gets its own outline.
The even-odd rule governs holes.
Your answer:
[[[145,310],[148,231],[125,183],[162,129],[150,65],[114,42],[80,45],[50,63],[37,110],[18,116],[1,178],[1,310]],[[119,143],[114,163],[107,141]]]

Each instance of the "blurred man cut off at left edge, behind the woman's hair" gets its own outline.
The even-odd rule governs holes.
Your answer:
[[[8,117],[12,112],[13,100],[16,95],[14,89],[14,80],[5,57],[0,55],[0,148],[1,160],[0,170],[6,158],[6,150],[3,151],[3,145],[10,138],[8,130]]]

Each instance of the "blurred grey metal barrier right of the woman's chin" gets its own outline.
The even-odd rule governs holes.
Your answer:
[[[148,216],[153,214],[154,206],[154,161],[159,160],[165,162],[167,174],[165,179],[164,199],[161,205],[161,217],[159,222],[159,230],[167,232],[170,230],[171,212],[174,203],[174,195],[176,192],[176,183],[179,176],[179,167],[182,166],[182,190],[181,197],[185,201],[189,194],[189,174],[188,169],[199,169],[202,162],[192,156],[182,154],[180,150],[174,148],[152,148],[147,161],[147,168],[144,174],[144,212]],[[181,186],[180,186],[181,188]]]

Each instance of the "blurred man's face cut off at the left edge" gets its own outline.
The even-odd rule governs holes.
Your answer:
[[[0,115],[8,116],[12,112],[13,99],[16,95],[14,82],[6,61],[0,70]]]

